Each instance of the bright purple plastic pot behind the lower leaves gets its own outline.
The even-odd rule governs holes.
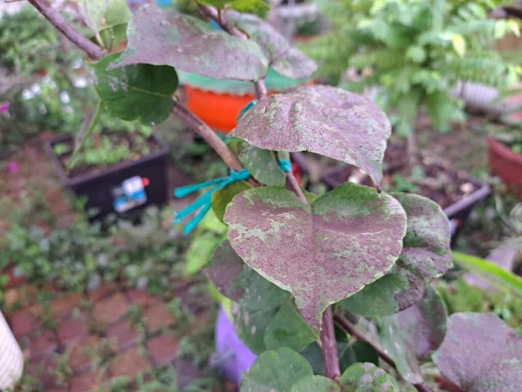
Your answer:
[[[234,324],[220,306],[216,321],[216,361],[227,378],[241,385],[241,374],[250,369],[256,358],[239,339]]]

